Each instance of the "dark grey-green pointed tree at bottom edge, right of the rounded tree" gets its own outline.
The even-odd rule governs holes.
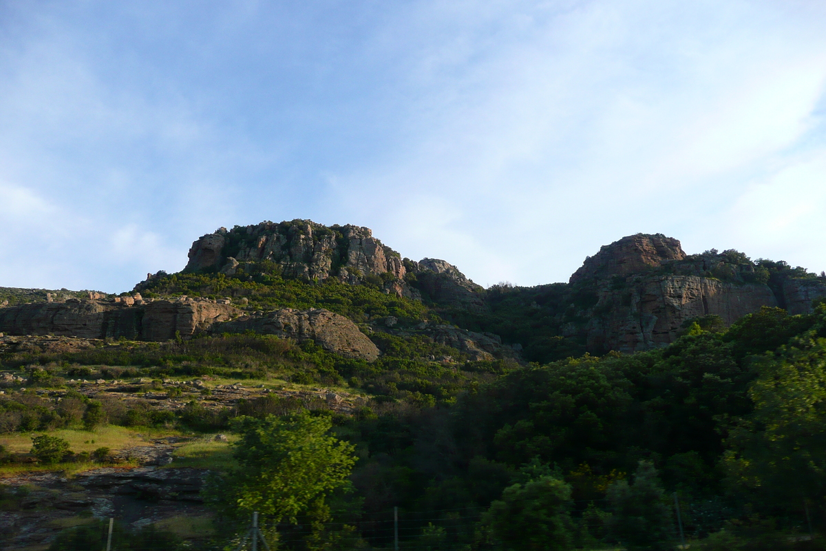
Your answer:
[[[629,551],[670,549],[671,509],[653,463],[640,461],[631,484],[614,482],[608,488],[608,500],[614,508],[610,532]]]

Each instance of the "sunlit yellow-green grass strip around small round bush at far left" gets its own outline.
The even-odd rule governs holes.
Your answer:
[[[146,444],[146,437],[178,435],[177,431],[149,429],[145,427],[122,427],[107,425],[93,431],[61,429],[42,432],[17,433],[0,436],[0,445],[12,454],[26,454],[31,449],[31,438],[38,435],[57,436],[69,442],[69,449],[74,453],[93,452],[98,448],[112,451]]]

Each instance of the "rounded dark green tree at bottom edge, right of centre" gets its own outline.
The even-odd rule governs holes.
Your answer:
[[[572,549],[571,487],[544,476],[514,484],[484,516],[495,539],[508,551]]]

